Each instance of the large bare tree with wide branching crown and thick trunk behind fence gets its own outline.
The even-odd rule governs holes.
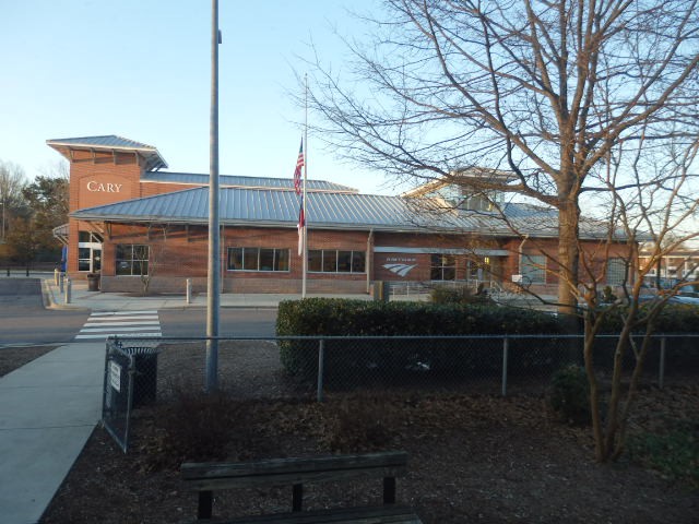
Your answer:
[[[581,199],[609,190],[599,183],[605,163],[641,140],[655,151],[698,134],[697,1],[383,4],[386,16],[367,20],[370,39],[348,43],[350,79],[317,60],[318,135],[399,179],[461,183],[472,167],[513,174],[508,183],[483,176],[473,189],[557,210],[558,302],[572,312]]]

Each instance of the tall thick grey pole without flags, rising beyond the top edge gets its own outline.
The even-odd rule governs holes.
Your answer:
[[[211,7],[211,120],[209,157],[209,277],[206,279],[206,392],[218,388],[221,229],[218,227],[218,0]]]

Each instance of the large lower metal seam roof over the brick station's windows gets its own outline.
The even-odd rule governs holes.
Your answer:
[[[299,199],[279,189],[221,188],[220,221],[224,226],[296,227]],[[393,230],[416,233],[479,233],[512,236],[498,216],[461,212],[420,213],[414,201],[401,196],[317,192],[308,196],[307,223],[311,228]],[[83,209],[73,218],[104,222],[209,223],[209,188],[192,188],[114,204]],[[536,236],[556,235],[546,215],[545,228],[528,230]]]

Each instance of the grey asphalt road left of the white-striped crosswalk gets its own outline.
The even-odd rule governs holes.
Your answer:
[[[39,278],[0,278],[0,347],[70,342],[87,314],[44,309]]]

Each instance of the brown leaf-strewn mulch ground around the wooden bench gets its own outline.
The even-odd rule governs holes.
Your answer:
[[[259,366],[252,379],[261,390],[279,384],[259,377]],[[632,432],[699,420],[697,398],[699,385],[691,383],[643,391]],[[181,462],[374,450],[407,451],[410,473],[399,479],[398,498],[425,523],[699,522],[696,488],[628,458],[595,464],[589,428],[559,422],[543,395],[365,392],[330,395],[321,404],[258,397],[214,402],[209,418],[209,407],[198,402],[139,409],[128,454],[97,428],[40,522],[192,522],[197,495],[179,479]],[[182,424],[185,415],[191,425]],[[206,431],[190,431],[194,422]],[[216,431],[226,436],[225,445],[201,440]],[[308,486],[305,504],[380,503],[380,479]],[[214,514],[289,507],[291,488],[233,490],[216,493]]]

